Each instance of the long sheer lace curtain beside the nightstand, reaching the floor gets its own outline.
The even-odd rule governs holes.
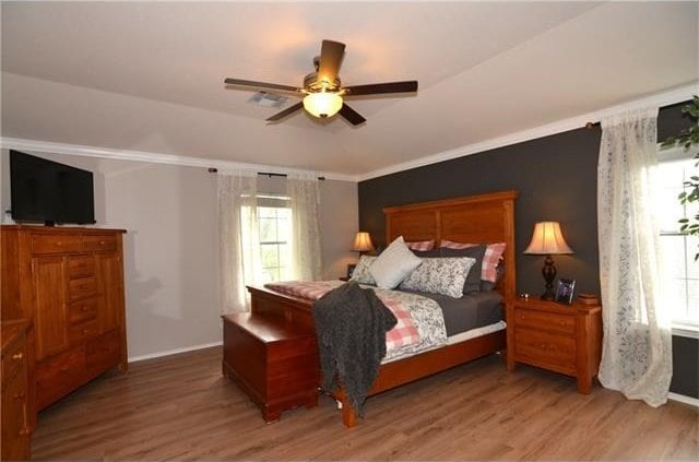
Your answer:
[[[672,330],[654,213],[657,109],[602,120],[597,225],[604,341],[600,382],[651,406],[667,400]]]

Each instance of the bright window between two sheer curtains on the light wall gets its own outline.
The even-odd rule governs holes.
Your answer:
[[[258,224],[263,282],[292,279],[292,210],[283,206],[258,206]]]

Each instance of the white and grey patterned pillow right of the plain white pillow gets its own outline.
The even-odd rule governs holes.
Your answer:
[[[425,258],[422,260],[423,264],[413,270],[413,272],[403,280],[400,288],[461,298],[463,295],[463,283],[466,281],[466,274],[469,274],[469,270],[471,270],[471,266],[475,263],[475,259],[452,257]]]

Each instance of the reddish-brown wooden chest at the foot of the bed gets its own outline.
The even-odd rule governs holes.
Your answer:
[[[274,422],[282,411],[318,405],[316,335],[256,313],[224,316],[223,371]]]

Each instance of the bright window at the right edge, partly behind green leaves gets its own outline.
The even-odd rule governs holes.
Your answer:
[[[699,210],[697,203],[683,205],[677,199],[685,188],[683,181],[696,175],[697,161],[687,158],[686,153],[673,156],[672,152],[670,155],[661,152],[661,155],[666,158],[659,168],[661,247],[670,272],[663,299],[672,309],[673,324],[699,328],[699,261],[695,261],[699,237],[680,233],[677,223],[679,218],[696,215]]]

